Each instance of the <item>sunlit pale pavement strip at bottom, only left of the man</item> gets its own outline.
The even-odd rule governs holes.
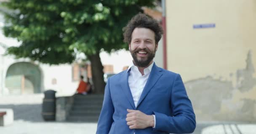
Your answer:
[[[95,134],[96,123],[14,121],[0,126],[0,134]]]

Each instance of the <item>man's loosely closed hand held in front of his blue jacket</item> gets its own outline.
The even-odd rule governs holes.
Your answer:
[[[154,116],[142,113],[139,110],[127,109],[127,125],[130,129],[145,129],[154,126]]]

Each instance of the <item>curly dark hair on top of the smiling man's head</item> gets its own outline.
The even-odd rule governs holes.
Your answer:
[[[131,44],[131,34],[135,28],[149,28],[154,31],[155,44],[158,44],[163,34],[163,28],[158,24],[157,20],[147,16],[144,13],[138,13],[131,18],[131,21],[129,21],[128,24],[123,28],[124,42]]]

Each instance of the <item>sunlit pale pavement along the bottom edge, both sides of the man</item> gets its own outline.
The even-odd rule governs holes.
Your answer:
[[[95,134],[96,123],[14,121],[0,134]],[[197,124],[193,134],[256,134],[256,124]]]

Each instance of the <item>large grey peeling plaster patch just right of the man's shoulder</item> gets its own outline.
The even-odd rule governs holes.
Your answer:
[[[216,113],[220,111],[221,101],[232,98],[232,82],[215,80],[208,76],[185,83],[189,98],[195,109],[203,113]]]

